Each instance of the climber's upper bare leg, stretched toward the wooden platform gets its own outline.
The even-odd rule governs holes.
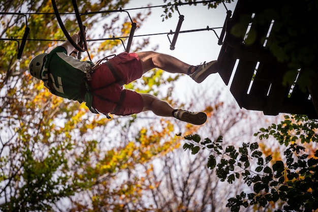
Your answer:
[[[137,55],[141,60],[143,73],[146,73],[153,68],[159,68],[170,73],[187,74],[190,67],[190,65],[167,54],[145,51],[138,52]]]

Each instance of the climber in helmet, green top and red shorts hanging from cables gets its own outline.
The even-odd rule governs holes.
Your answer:
[[[80,33],[71,38],[80,42]],[[153,68],[170,73],[187,74],[196,82],[216,73],[216,61],[190,66],[179,59],[153,51],[120,53],[106,63],[94,65],[76,58],[78,51],[67,40],[50,53],[34,57],[30,74],[44,81],[54,95],[85,102],[93,113],[131,115],[151,110],[158,116],[175,117],[187,123],[202,125],[207,116],[204,112],[189,112],[172,108],[167,102],[149,94],[139,94],[123,89],[128,84]]]

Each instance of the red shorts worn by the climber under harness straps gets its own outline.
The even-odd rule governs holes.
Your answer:
[[[104,114],[130,115],[141,112],[141,95],[122,88],[122,84],[128,84],[142,76],[142,65],[138,55],[123,52],[109,59],[107,63],[109,62],[116,70],[116,77],[120,82],[116,82],[118,79],[105,63],[94,70],[89,81],[93,90],[92,107]],[[120,103],[117,106],[118,102]]]

